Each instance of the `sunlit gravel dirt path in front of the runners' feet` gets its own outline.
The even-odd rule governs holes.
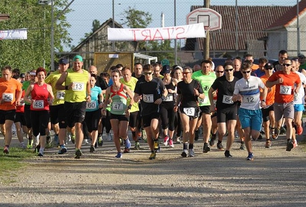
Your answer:
[[[306,206],[305,147],[286,152],[284,136],[272,149],[254,141],[254,161],[246,161],[235,141],[233,158],[215,147],[203,154],[202,141],[194,158],[181,158],[176,144],[154,161],[147,144],[122,159],[114,158],[112,142],[94,154],[85,145],[80,160],[72,144],[65,155],[48,149],[12,172],[16,182],[0,184],[0,206]]]

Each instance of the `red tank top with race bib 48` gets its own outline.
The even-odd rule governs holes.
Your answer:
[[[46,83],[44,83],[42,86],[34,83],[31,97],[33,100],[35,100],[35,102],[34,104],[31,104],[30,109],[34,111],[49,110],[48,96],[49,92],[47,90]]]

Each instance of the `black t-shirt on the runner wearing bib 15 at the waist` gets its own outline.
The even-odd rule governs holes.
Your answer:
[[[177,94],[182,95],[181,105],[183,107],[197,107],[198,99],[194,96],[193,89],[198,90],[200,94],[204,93],[199,81],[192,79],[190,83],[184,80],[177,83]]]

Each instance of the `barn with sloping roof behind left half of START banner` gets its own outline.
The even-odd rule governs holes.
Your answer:
[[[113,19],[110,18],[102,23],[89,37],[83,40],[78,46],[74,47],[69,55],[72,59],[78,53],[83,57],[84,69],[93,65],[94,52],[113,51],[112,42],[107,40],[107,28],[113,27]],[[123,28],[115,21],[115,28]],[[134,51],[134,42],[116,42],[115,51]]]

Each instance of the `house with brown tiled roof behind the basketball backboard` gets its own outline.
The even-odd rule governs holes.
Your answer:
[[[202,6],[192,6],[191,11],[198,8]],[[243,57],[251,53],[254,58],[277,58],[282,49],[288,50],[291,56],[297,54],[296,6],[238,6],[238,22],[235,6],[210,8],[222,16],[222,28],[210,32],[211,57]],[[301,40],[306,37],[305,8],[306,1],[300,1]],[[187,39],[184,50],[193,51],[194,59],[200,60],[203,41],[202,38]],[[306,50],[306,44],[301,45],[301,50]]]

